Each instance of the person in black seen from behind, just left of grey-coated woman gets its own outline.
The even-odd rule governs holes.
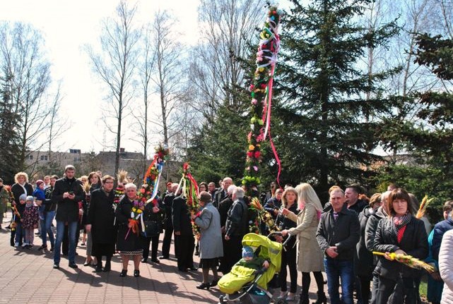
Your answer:
[[[175,197],[172,207],[173,229],[175,230],[175,253],[178,269],[187,272],[194,267],[195,238],[192,221],[187,209],[186,199],[182,195]]]

